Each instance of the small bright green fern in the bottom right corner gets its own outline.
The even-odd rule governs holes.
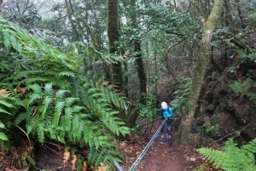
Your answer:
[[[212,163],[214,168],[222,168],[225,171],[253,171],[256,170],[255,157],[256,140],[252,140],[241,148],[237,147],[233,140],[226,141],[223,151],[209,148],[198,149],[200,154]]]

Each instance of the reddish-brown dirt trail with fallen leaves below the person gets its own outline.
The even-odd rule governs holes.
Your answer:
[[[157,122],[154,125],[157,127],[160,124]],[[175,130],[172,132],[175,132]],[[154,134],[154,130],[152,134]],[[133,139],[133,143],[130,142],[131,144],[125,145],[127,154],[125,170],[131,167],[132,163],[137,160],[137,157],[148,144],[148,140],[138,139],[139,137],[136,137]],[[175,135],[172,139],[175,139]],[[169,146],[166,142],[154,140],[154,143],[137,166],[137,171],[193,171],[198,158],[192,147],[183,145]]]

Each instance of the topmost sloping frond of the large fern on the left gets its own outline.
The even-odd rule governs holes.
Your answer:
[[[16,55],[22,55],[31,65],[39,68],[61,69],[63,66],[76,70],[79,58],[53,48],[39,38],[33,37],[27,31],[0,18],[0,43]],[[44,60],[44,63],[42,61]]]

